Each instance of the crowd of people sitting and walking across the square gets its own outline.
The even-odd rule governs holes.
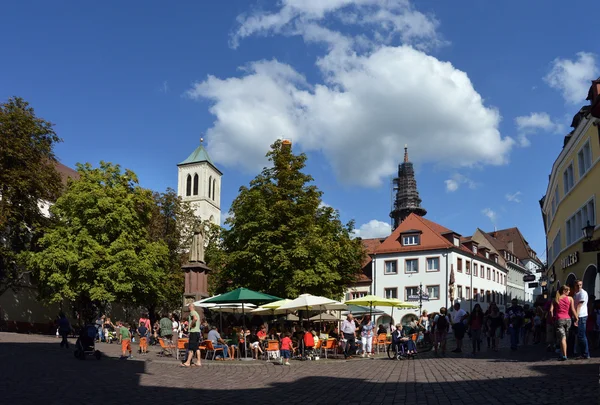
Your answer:
[[[189,316],[180,320],[177,314],[156,316],[151,324],[148,314],[131,323],[118,321],[114,324],[110,318],[102,315],[95,322],[98,342],[118,341],[121,344],[122,359],[132,357],[131,342],[139,340],[139,353],[148,353],[148,346],[161,345],[159,354],[171,356],[168,348],[179,339],[187,339],[187,354],[183,367],[201,365],[200,347],[202,342],[210,341],[217,360],[234,360],[236,356],[251,356],[258,359],[265,356],[269,341],[277,341],[282,364],[289,365],[289,359],[298,356],[305,358],[314,353],[320,343],[328,339],[335,340],[335,350],[345,358],[360,355],[374,356],[373,342],[385,334],[389,344],[407,355],[417,352],[415,342],[424,336],[431,339],[436,354],[446,353],[446,342],[452,330],[456,347],[452,352],[462,353],[465,336],[471,341],[471,353],[481,352],[484,341],[488,350],[498,351],[505,337],[510,340],[510,348],[517,350],[519,344],[547,345],[548,351],[556,351],[559,360],[575,356],[579,359],[590,357],[590,349],[600,346],[600,301],[590,296],[582,288],[581,280],[570,294],[568,286],[562,286],[555,297],[547,301],[537,301],[534,305],[519,305],[513,299],[511,305],[501,312],[495,302],[491,302],[483,311],[475,304],[471,312],[454,304],[451,311],[445,307],[439,312],[429,314],[423,311],[420,317],[408,325],[375,325],[371,316],[365,314],[355,318],[348,314],[338,328],[337,323],[276,323],[271,326],[262,324],[249,328],[229,326],[220,331],[216,325],[209,325],[200,317],[193,305],[189,306]],[[57,319],[57,335],[62,337],[61,347],[68,348],[67,336],[72,328],[64,314]],[[412,339],[412,336],[418,339]],[[321,341],[321,342],[320,342]]]

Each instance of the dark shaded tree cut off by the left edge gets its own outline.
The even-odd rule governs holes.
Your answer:
[[[26,255],[50,224],[40,204],[55,201],[62,189],[58,142],[52,124],[23,99],[0,104],[0,295],[26,281]]]

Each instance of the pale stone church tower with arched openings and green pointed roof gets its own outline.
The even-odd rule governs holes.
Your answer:
[[[196,216],[221,225],[221,176],[208,152],[200,145],[187,159],[177,165],[177,195],[188,201]]]

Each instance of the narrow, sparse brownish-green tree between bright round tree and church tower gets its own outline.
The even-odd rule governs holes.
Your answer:
[[[177,196],[175,190],[169,188],[164,193],[154,193],[153,198],[149,237],[167,245],[168,262],[159,283],[160,293],[148,297],[144,303],[150,314],[156,313],[157,308],[181,307],[184,288],[181,266],[187,261],[193,229],[201,222],[190,204]]]

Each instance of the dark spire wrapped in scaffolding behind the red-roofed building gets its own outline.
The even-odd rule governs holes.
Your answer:
[[[398,177],[394,179],[394,191],[396,198],[390,212],[390,217],[394,220],[392,230],[396,229],[412,212],[420,217],[427,214],[427,210],[421,207],[415,171],[412,163],[408,161],[407,145],[404,145],[404,162],[398,165]]]

